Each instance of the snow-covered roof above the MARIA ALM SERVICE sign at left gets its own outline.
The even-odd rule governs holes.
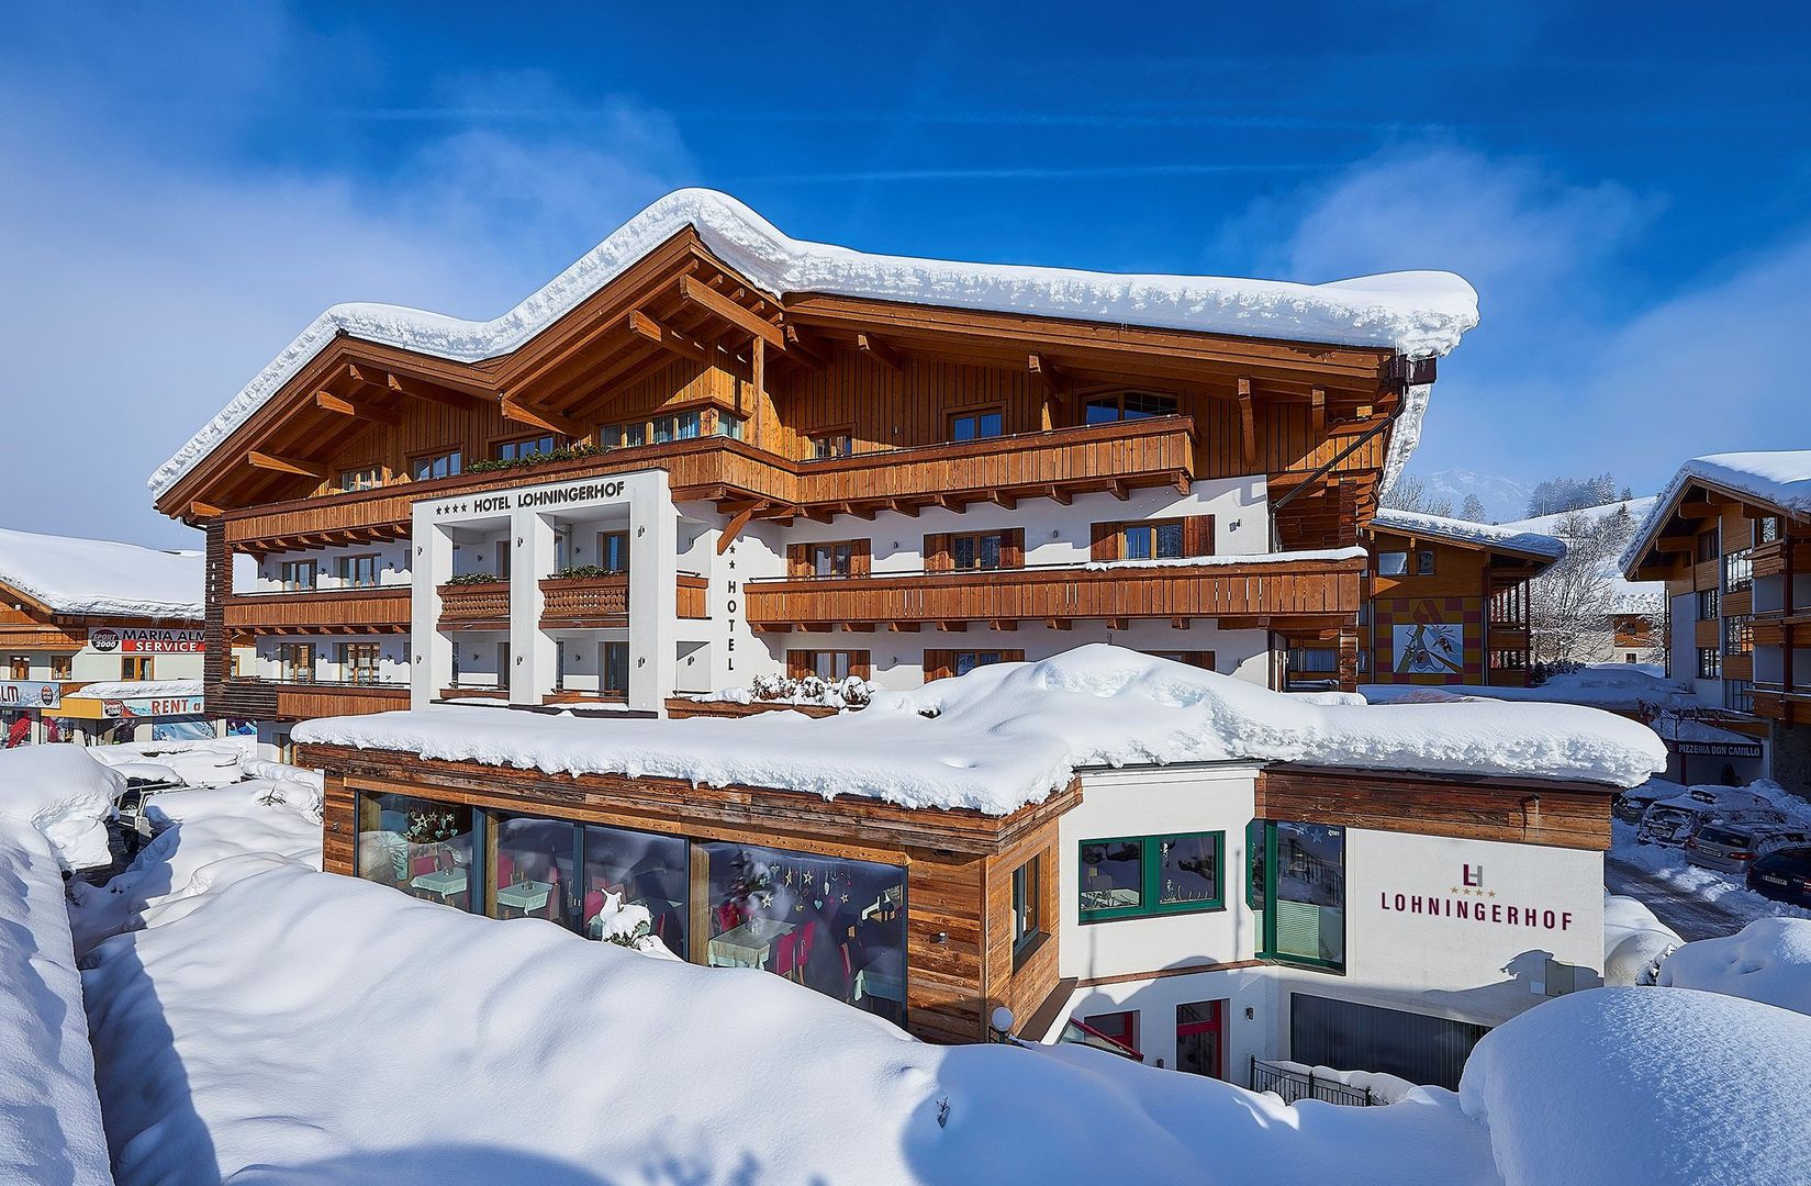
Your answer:
[[[0,585],[58,614],[203,616],[201,552],[0,529]]]

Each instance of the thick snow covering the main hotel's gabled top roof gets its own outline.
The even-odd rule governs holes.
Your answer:
[[[391,304],[335,304],[158,467],[149,480],[152,496],[161,496],[226,440],[335,335],[350,333],[458,362],[494,359],[525,344],[686,226],[728,266],[777,295],[826,293],[1163,330],[1387,346],[1409,357],[1443,355],[1478,324],[1478,293],[1451,272],[1393,272],[1329,284],[1293,284],[869,255],[791,239],[728,194],[676,190],[493,320],[460,320]],[[1385,485],[1414,449],[1425,404],[1427,387],[1413,387],[1393,433]]]

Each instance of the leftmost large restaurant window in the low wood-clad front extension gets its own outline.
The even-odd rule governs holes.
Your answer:
[[[360,791],[353,869],[368,882],[471,911],[473,840],[467,806]]]

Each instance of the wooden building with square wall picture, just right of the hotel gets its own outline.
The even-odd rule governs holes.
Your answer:
[[[1394,509],[1364,538],[1364,683],[1527,686],[1528,581],[1561,540]]]

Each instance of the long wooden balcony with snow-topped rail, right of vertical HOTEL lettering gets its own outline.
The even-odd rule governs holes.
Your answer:
[[[920,623],[1215,617],[1226,626],[1329,626],[1358,612],[1362,560],[1251,565],[1041,567],[750,581],[755,630],[916,630]]]

